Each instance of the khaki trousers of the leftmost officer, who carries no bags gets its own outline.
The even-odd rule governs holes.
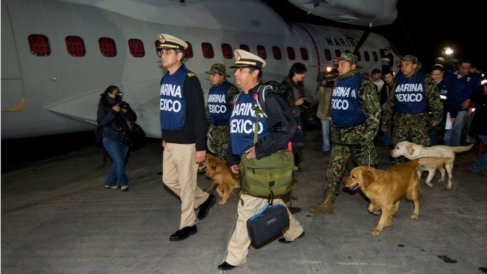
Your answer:
[[[209,194],[197,186],[198,164],[195,144],[167,143],[162,156],[162,181],[181,199],[179,229],[196,224],[195,209]]]

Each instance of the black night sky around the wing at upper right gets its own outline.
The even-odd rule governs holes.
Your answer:
[[[264,2],[291,22],[366,28],[306,14],[288,1]],[[469,59],[487,71],[487,1],[399,0],[397,9],[398,16],[391,25],[373,27],[372,32],[389,39],[401,54],[418,56],[425,71],[435,64],[445,46],[455,50],[455,57]]]

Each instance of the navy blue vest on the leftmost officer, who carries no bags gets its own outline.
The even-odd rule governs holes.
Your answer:
[[[161,128],[164,130],[181,130],[186,119],[186,101],[183,90],[186,75],[190,72],[182,65],[173,75],[166,72],[161,80]]]

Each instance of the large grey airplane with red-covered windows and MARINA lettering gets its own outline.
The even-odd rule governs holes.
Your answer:
[[[310,12],[316,10],[309,3],[324,10],[323,1],[290,1]],[[371,2],[395,6],[396,0]],[[346,8],[326,7],[333,16]],[[394,10],[389,17],[374,18],[373,12],[343,14],[357,25],[395,18]],[[293,63],[304,63],[312,103],[319,72],[333,57],[358,51],[361,71],[370,72],[381,67],[381,48],[394,49],[369,31],[286,22],[260,0],[2,0],[1,138],[92,130],[100,94],[109,85],[120,87],[147,136],[161,138],[159,85],[166,71],[158,56],[159,33],[191,45],[184,63],[200,79],[205,100],[211,87],[205,71],[213,63],[228,68],[238,48],[266,59],[263,81],[280,82]]]

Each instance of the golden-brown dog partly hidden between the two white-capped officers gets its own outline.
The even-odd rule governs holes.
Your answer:
[[[207,153],[205,161],[200,164],[199,171],[205,171],[206,176],[218,184],[217,193],[222,197],[220,205],[234,195],[234,190],[240,188],[239,175],[233,173],[227,165],[227,161]]]

